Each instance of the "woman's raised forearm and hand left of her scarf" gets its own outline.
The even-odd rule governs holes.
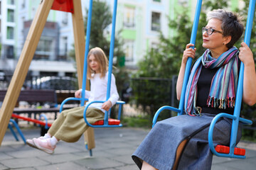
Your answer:
[[[188,60],[188,57],[195,58],[196,55],[196,48],[191,48],[194,45],[189,43],[186,45],[186,50],[183,52],[183,57],[181,61],[181,68],[180,71],[178,72],[178,80],[176,84],[176,93],[177,93],[177,99],[178,101],[181,98],[181,90],[182,90],[182,84],[183,84],[183,79],[184,79],[184,74],[185,74],[185,69],[186,69],[186,62]]]

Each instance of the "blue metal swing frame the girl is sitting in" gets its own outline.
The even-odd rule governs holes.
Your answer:
[[[87,31],[86,31],[86,42],[85,42],[85,60],[84,60],[84,67],[82,72],[82,96],[81,98],[66,98],[60,105],[60,112],[63,111],[63,106],[68,101],[80,101],[80,106],[85,106],[85,101],[88,101],[88,98],[85,98],[85,89],[86,89],[86,80],[87,80],[87,55],[89,52],[89,45],[90,45],[90,28],[91,28],[91,21],[92,21],[92,2],[93,0],[90,0],[89,4],[89,10],[88,10],[88,17],[87,17]],[[113,55],[114,55],[114,33],[115,33],[115,23],[116,23],[116,16],[117,16],[117,0],[114,0],[114,10],[112,14],[112,33],[111,33],[111,40],[110,40],[110,60],[109,60],[109,67],[108,67],[108,78],[107,78],[107,98],[106,101],[110,98],[110,86],[111,86],[111,75],[112,75],[112,64],[113,64]],[[83,117],[85,119],[85,123],[92,127],[92,128],[119,128],[122,127],[122,124],[119,125],[109,125],[109,115],[110,111],[105,111],[105,118],[104,118],[104,124],[103,125],[92,125],[87,121],[86,118],[86,111],[87,108],[92,103],[104,103],[105,101],[92,101],[87,104],[84,110]],[[121,119],[121,113],[122,113],[122,105],[124,104],[124,101],[117,101],[116,104],[119,104],[118,109],[118,117],[117,119]]]

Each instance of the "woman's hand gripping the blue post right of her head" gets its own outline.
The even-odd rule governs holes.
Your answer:
[[[245,66],[253,64],[254,65],[254,60],[253,60],[253,55],[252,51],[250,50],[250,47],[245,42],[241,43],[241,47],[239,48],[239,59]]]

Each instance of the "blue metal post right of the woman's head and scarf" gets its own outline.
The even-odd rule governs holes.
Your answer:
[[[251,0],[249,4],[248,14],[247,14],[247,21],[246,21],[246,28],[245,28],[245,43],[250,46],[250,37],[252,33],[252,23],[253,17],[255,13],[255,0]],[[238,79],[238,91],[235,99],[235,111],[234,115],[236,117],[232,123],[232,130],[231,130],[231,137],[230,137],[230,153],[234,152],[236,138],[238,134],[238,124],[239,124],[239,117],[240,117],[240,109],[242,103],[242,87],[243,87],[243,78],[244,78],[244,64],[241,62],[240,65],[240,74]]]

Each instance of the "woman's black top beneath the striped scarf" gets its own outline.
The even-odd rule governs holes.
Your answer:
[[[239,64],[240,66],[240,64]],[[211,81],[217,72],[218,68],[215,69],[206,69],[202,67],[201,74],[198,78],[198,96],[196,100],[196,106],[202,108],[202,113],[230,113],[233,114],[234,108],[226,108],[226,109],[219,109],[219,108],[212,108],[211,106],[207,106],[207,99],[210,92],[210,84]]]

